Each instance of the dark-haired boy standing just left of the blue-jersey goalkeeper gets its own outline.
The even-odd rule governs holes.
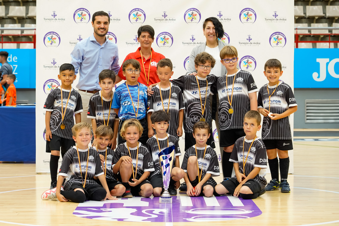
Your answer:
[[[117,133],[119,118],[116,117],[115,111],[111,108],[113,101],[113,87],[115,86],[115,73],[112,70],[104,69],[99,74],[99,86],[101,90],[93,94],[88,103],[87,118],[92,119],[93,134],[100,125],[106,125],[113,129],[114,137],[112,148],[115,149],[117,142]],[[96,140],[93,145],[96,145]]]

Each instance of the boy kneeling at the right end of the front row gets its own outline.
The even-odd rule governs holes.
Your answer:
[[[261,117],[258,111],[245,114],[243,130],[246,136],[239,138],[233,147],[230,161],[233,162],[235,176],[224,180],[215,187],[215,195],[231,193],[243,199],[256,199],[265,193],[266,149],[257,137]]]

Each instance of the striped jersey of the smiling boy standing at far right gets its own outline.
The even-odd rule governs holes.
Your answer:
[[[274,94],[273,91],[275,90]],[[294,97],[292,88],[280,81],[278,86],[268,86],[268,91],[270,95],[270,111],[274,114],[282,114],[289,107],[297,106],[296,99]],[[263,85],[258,93],[258,108],[269,108],[268,103],[268,93],[267,93],[267,84]],[[262,122],[261,130],[261,139],[278,139],[278,140],[291,140],[291,126],[290,126],[290,117],[285,117],[282,119],[272,120],[270,117],[266,116]]]

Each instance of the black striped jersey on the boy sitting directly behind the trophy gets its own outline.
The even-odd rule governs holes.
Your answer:
[[[164,150],[167,147],[171,147],[175,145],[175,150],[174,150],[175,156],[181,156],[179,143],[178,143],[179,139],[177,137],[169,135],[168,133],[167,133],[167,136],[168,136],[168,139],[167,137],[158,138],[160,147],[158,146],[157,137],[155,135],[147,140],[147,148],[149,152],[151,152],[154,169],[155,169],[155,171],[152,172],[149,177],[152,177],[155,174],[161,173],[160,164],[159,164],[159,156],[158,156],[160,151]],[[173,166],[174,165],[175,165],[175,158],[173,160]]]

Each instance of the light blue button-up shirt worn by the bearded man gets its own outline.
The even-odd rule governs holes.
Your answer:
[[[118,46],[106,38],[100,45],[94,34],[78,42],[71,53],[71,64],[75,67],[75,74],[80,74],[78,89],[101,90],[99,74],[104,69],[115,71],[118,75],[120,69]]]

